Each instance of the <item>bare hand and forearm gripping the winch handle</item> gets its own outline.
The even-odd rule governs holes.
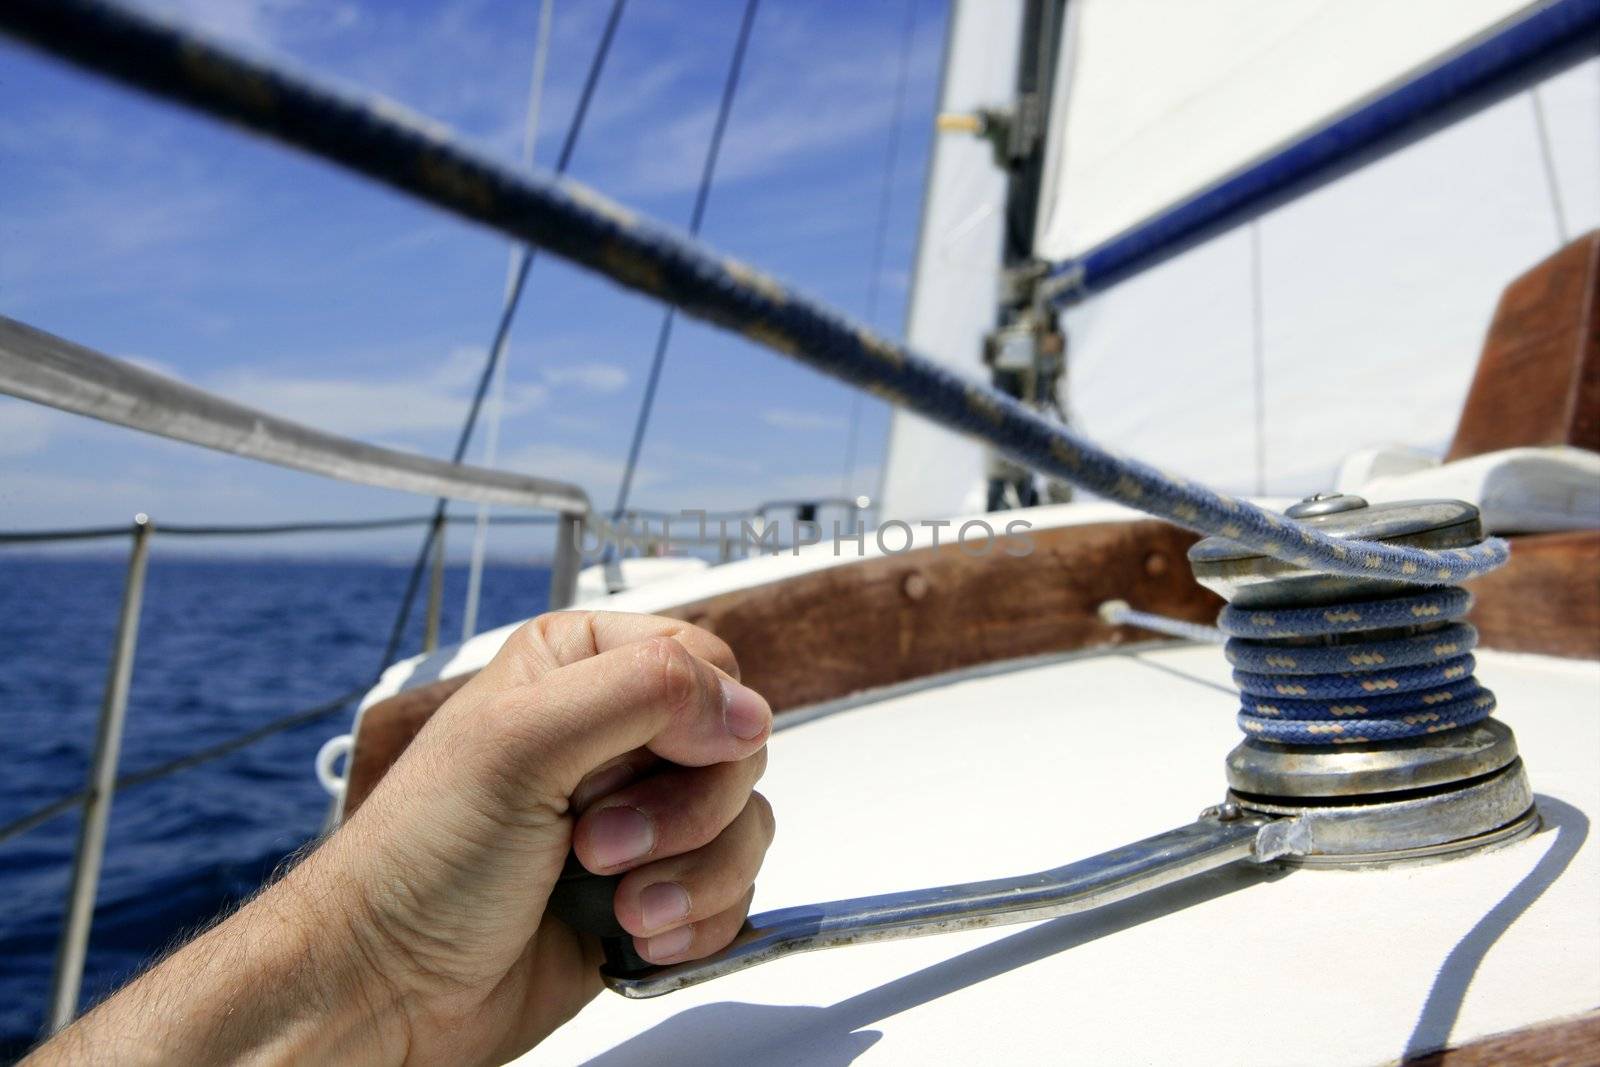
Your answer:
[[[685,622],[534,619],[315,853],[42,1053],[504,1062],[602,987],[598,942],[544,915],[568,849],[627,872],[646,960],[725,947],[773,837],[771,709],[738,673]]]

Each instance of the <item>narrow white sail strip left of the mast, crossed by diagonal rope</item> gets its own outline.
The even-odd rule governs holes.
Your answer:
[[[957,3],[939,109],[1003,107],[1016,94],[1021,0]],[[987,381],[979,362],[994,326],[1000,278],[1005,171],[989,142],[966,134],[934,139],[912,275],[906,336],[912,349]],[[982,510],[982,450],[896,408],[878,520],[936,518]]]

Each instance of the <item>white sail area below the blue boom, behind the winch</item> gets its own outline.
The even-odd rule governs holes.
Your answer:
[[[1440,454],[1501,291],[1600,226],[1600,61],[1536,93],[1070,310],[1078,429],[1242,493],[1331,488],[1363,448]]]

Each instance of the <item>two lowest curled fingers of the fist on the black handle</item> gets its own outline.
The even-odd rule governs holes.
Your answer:
[[[750,793],[739,816],[704,848],[624,875],[614,897],[618,921],[654,963],[722,949],[744,921],[750,885],[771,843],[773,809]],[[722,921],[730,913],[731,928]]]

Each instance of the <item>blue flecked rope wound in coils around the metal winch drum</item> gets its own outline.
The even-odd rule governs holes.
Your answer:
[[[1222,609],[1243,694],[1238,726],[1282,744],[1352,744],[1434,734],[1486,718],[1494,694],[1472,677],[1478,632],[1459,587],[1317,608]],[[1442,625],[1443,624],[1443,625]],[[1395,635],[1400,627],[1427,625]],[[1370,637],[1366,637],[1370,635]]]

